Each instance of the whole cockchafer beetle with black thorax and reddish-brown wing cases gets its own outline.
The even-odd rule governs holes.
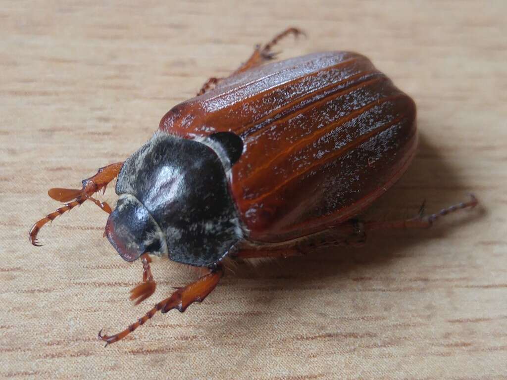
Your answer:
[[[105,166],[81,189],[52,188],[66,203],[41,227],[90,200],[110,214],[105,235],[127,261],[141,258],[136,304],[153,294],[150,256],[209,273],[114,335],[122,339],[157,311],[184,312],[223,275],[224,257],[286,257],[315,244],[363,241],[368,231],[428,227],[477,199],[429,216],[364,221],[353,217],[406,171],[414,157],[416,107],[370,60],[352,52],[315,53],[265,64],[289,28],[227,78],[173,107],[158,131],[125,162]],[[93,194],[118,177],[113,211]]]

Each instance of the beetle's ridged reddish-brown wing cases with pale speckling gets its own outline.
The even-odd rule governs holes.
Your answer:
[[[383,194],[414,155],[415,115],[413,100],[368,58],[328,52],[230,77],[172,108],[159,128],[241,136],[233,198],[250,239],[281,242],[336,225]]]

